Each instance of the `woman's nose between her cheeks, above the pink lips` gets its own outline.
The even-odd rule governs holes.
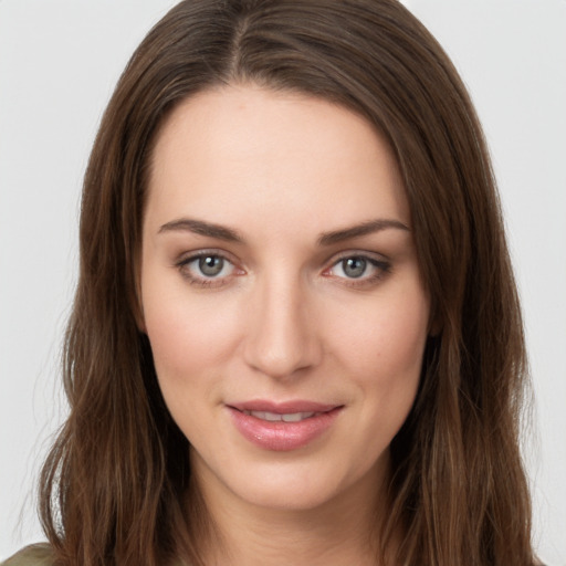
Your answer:
[[[321,337],[308,293],[296,281],[280,277],[260,284],[247,317],[244,358],[254,370],[285,378],[321,361]]]

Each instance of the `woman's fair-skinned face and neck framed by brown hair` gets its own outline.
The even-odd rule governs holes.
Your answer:
[[[388,145],[328,102],[227,86],[174,111],[148,191],[140,324],[224,543],[207,564],[375,564],[429,326]]]

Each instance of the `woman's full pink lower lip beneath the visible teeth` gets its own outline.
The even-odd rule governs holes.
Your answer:
[[[229,407],[235,428],[263,450],[290,451],[303,448],[331,428],[342,407],[321,412],[298,422],[268,421]]]

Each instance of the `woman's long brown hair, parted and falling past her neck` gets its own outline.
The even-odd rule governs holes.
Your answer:
[[[350,108],[385,134],[402,171],[433,324],[391,444],[381,546],[400,528],[402,564],[532,564],[517,440],[525,349],[490,159],[454,67],[395,0],[187,0],[133,55],[84,180],[71,412],[41,478],[57,563],[202,564],[207,514],[136,324],[137,271],[157,133],[180,101],[228,83]]]

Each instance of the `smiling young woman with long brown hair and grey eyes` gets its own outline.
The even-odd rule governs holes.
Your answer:
[[[400,4],[154,28],[85,177],[65,384],[51,546],[8,564],[533,564],[489,157]]]

